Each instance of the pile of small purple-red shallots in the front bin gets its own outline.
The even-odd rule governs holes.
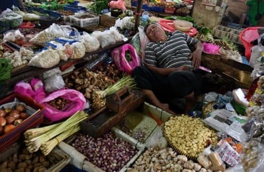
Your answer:
[[[129,142],[115,137],[112,132],[105,133],[102,138],[78,133],[72,146],[88,160],[104,171],[120,171],[138,152]]]

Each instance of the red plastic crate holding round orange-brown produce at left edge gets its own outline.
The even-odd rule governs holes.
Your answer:
[[[17,127],[12,129],[12,131],[9,133],[0,136],[0,152],[22,138],[23,132],[25,132],[27,129],[37,127],[44,120],[44,106],[40,105],[28,96],[23,96],[21,94],[10,94],[6,98],[0,100],[0,106],[6,103],[12,103],[15,101],[15,98],[17,98],[20,103],[25,103],[26,106],[30,107],[30,109],[35,110],[35,113],[30,114],[26,120],[23,120],[21,124],[17,125]]]

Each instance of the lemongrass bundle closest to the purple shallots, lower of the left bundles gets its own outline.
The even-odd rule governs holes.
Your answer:
[[[79,131],[81,127],[79,125],[76,125],[72,127],[71,129],[68,129],[67,131],[64,131],[63,133],[60,133],[57,137],[48,140],[48,142],[45,142],[44,144],[41,144],[40,150],[44,155],[48,155],[50,151],[52,151],[57,144],[62,142],[64,139],[68,138],[69,136],[73,135],[73,133],[76,133]]]

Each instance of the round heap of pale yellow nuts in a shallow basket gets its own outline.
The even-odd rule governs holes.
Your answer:
[[[180,152],[197,158],[208,142],[216,145],[216,132],[205,125],[200,118],[174,116],[164,124],[167,141]]]

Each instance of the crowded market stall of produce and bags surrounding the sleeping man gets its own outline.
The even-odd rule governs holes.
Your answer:
[[[263,171],[263,35],[247,65],[235,46],[245,32],[201,26],[188,15],[200,2],[127,3],[2,12],[0,171]],[[155,107],[131,77],[150,21],[202,43],[214,91],[188,115]]]

